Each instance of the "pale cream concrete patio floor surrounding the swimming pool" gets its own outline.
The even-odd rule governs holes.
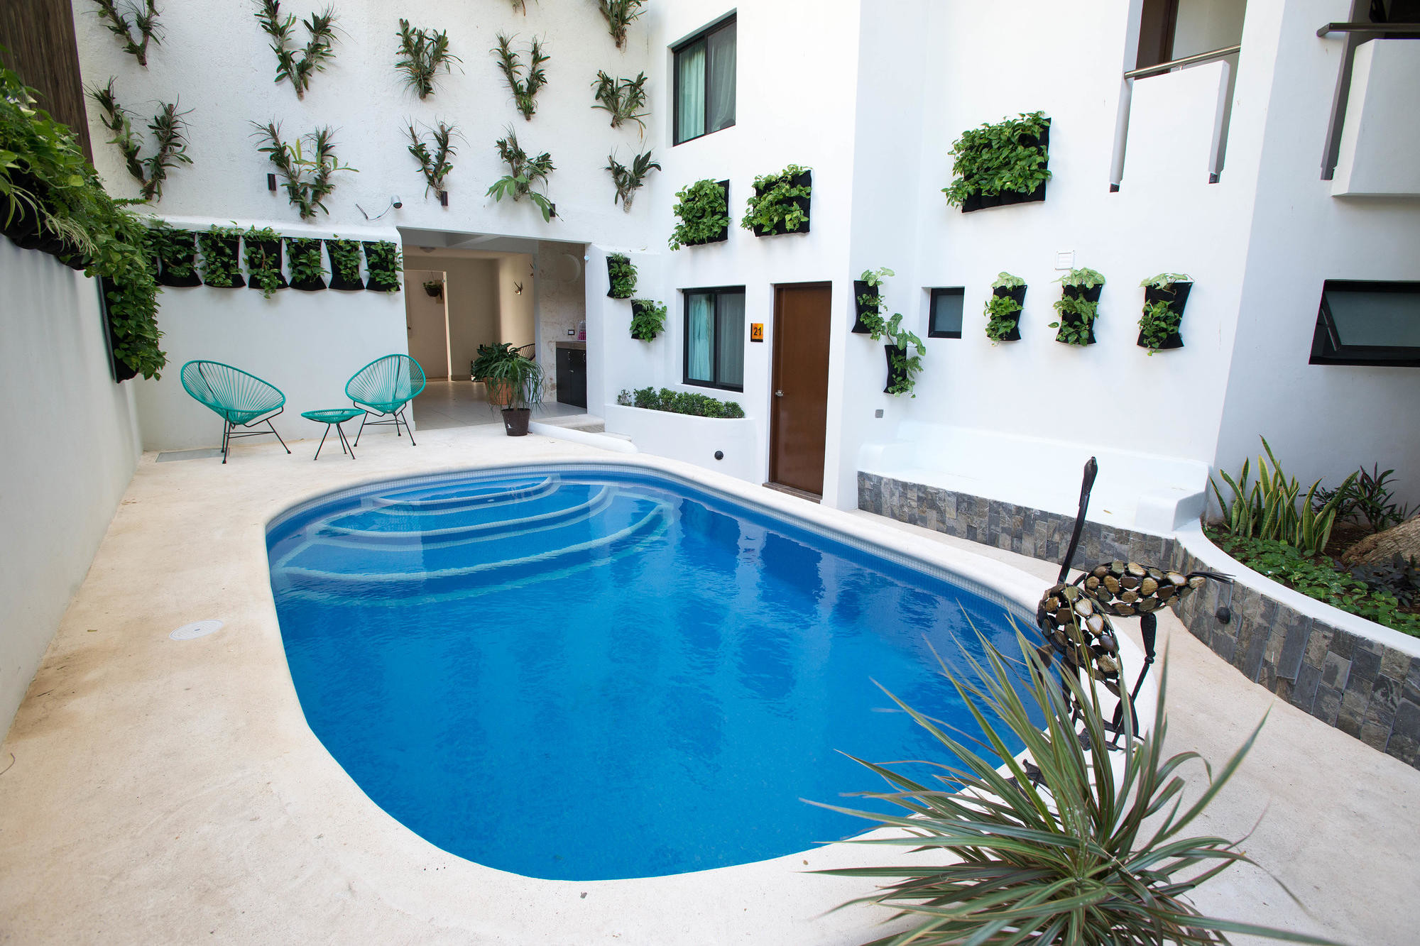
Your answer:
[[[417,436],[417,447],[366,437],[355,462],[327,450],[312,463],[314,442],[293,445],[294,456],[241,445],[227,466],[143,457],[0,747],[0,940],[848,946],[882,935],[886,910],[824,915],[865,892],[862,882],[802,872],[882,859],[872,851],[831,845],[643,881],[534,881],[439,851],[351,783],[305,726],[285,668],[263,543],[271,516],[364,480],[490,463],[689,469],[510,439],[494,425]],[[728,486],[778,509],[808,506]],[[814,514],[1014,594],[1038,594],[1055,571],[862,513]],[[204,618],[226,626],[168,638]],[[1413,942],[1420,773],[1274,702],[1172,615],[1160,628],[1174,751],[1220,763],[1272,707],[1197,832],[1241,837],[1265,811],[1247,851],[1311,916],[1250,869],[1204,888],[1200,908],[1348,943]],[[1201,767],[1187,774],[1200,791]]]

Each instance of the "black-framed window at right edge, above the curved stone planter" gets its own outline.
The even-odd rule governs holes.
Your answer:
[[[1322,283],[1311,364],[1420,368],[1420,283]]]

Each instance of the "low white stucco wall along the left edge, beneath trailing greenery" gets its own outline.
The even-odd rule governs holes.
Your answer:
[[[0,732],[88,574],[138,464],[94,280],[0,239]],[[98,628],[102,634],[104,628]]]

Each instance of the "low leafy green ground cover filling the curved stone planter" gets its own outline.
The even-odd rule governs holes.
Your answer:
[[[1208,538],[1252,571],[1261,572],[1292,591],[1402,634],[1420,636],[1420,614],[1400,611],[1404,605],[1396,597],[1394,589],[1386,585],[1384,577],[1377,574],[1383,570],[1367,572],[1367,570],[1358,568],[1348,574],[1331,564],[1331,560],[1308,555],[1289,543],[1234,535],[1224,528],[1210,528]],[[1392,568],[1389,571],[1400,571],[1402,580],[1404,580],[1403,568],[1406,564],[1409,562],[1403,562],[1400,570]],[[1372,581],[1366,581],[1367,574]],[[1409,607],[1414,607],[1413,597]]]

